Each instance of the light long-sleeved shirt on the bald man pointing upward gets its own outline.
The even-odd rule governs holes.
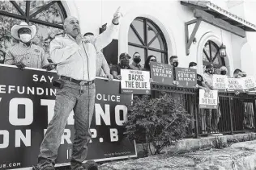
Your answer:
[[[80,45],[70,35],[55,37],[49,53],[53,63],[57,64],[58,75],[93,81],[96,78],[96,52],[111,43],[116,32],[117,26],[112,23],[102,34],[84,37],[85,42]]]

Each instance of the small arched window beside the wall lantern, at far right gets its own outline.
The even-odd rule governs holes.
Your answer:
[[[211,40],[208,40],[203,48],[203,65],[207,64],[213,64],[216,73],[219,73],[219,68],[225,65],[224,58],[220,56],[220,47]]]

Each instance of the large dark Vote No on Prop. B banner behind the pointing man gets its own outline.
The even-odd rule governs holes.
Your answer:
[[[0,65],[0,169],[28,168],[37,163],[41,141],[53,118],[56,73]],[[96,79],[92,141],[87,160],[134,157],[134,143],[124,138],[130,94],[120,94],[120,81]],[[69,163],[74,139],[74,112],[70,113],[57,164]]]

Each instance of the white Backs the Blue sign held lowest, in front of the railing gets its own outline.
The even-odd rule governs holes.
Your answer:
[[[199,89],[199,108],[217,109],[218,90],[211,90],[207,93],[204,89]]]

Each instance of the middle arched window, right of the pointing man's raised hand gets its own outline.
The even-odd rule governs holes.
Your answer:
[[[147,56],[156,56],[158,62],[167,63],[167,45],[164,34],[150,19],[136,18],[130,24],[128,35],[130,56],[139,52],[144,65]]]

